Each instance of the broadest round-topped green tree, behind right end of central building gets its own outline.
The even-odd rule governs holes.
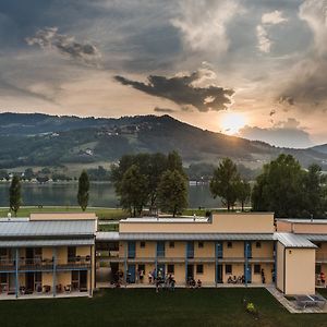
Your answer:
[[[280,155],[264,166],[252,191],[252,207],[274,211],[277,217],[302,217],[305,210],[302,170],[291,155]]]

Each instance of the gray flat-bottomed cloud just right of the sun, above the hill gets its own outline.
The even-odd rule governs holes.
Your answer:
[[[293,118],[287,121],[279,121],[270,129],[257,126],[244,126],[240,130],[242,137],[263,141],[281,147],[306,148],[313,145],[310,134],[300,128],[300,122]]]

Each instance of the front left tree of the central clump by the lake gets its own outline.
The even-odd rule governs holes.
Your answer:
[[[142,209],[148,201],[147,187],[147,178],[140,172],[136,165],[132,165],[124,172],[117,193],[120,195],[121,206],[133,217],[142,214]]]

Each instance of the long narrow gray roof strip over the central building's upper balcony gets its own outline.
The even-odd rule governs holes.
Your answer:
[[[119,233],[97,232],[97,241],[274,241],[274,233]]]

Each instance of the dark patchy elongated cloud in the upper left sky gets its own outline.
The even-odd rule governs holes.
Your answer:
[[[57,49],[60,53],[86,64],[98,64],[99,50],[92,44],[76,43],[75,38],[58,33],[58,27],[39,29],[34,37],[27,37],[28,46],[38,45],[43,49]]]

